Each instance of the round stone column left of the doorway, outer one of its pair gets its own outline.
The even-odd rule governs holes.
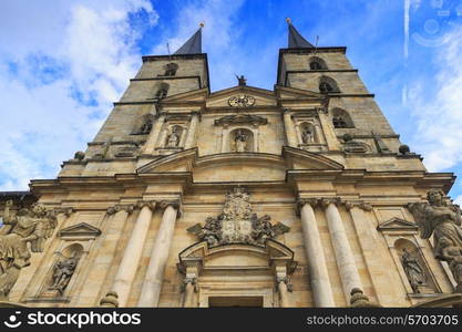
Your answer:
[[[129,243],[125,247],[122,261],[115,274],[112,291],[119,297],[119,307],[125,307],[129,300],[130,290],[133,279],[135,278],[141,256],[143,252],[144,241],[150,229],[155,203],[140,204],[141,211],[130,235]]]

